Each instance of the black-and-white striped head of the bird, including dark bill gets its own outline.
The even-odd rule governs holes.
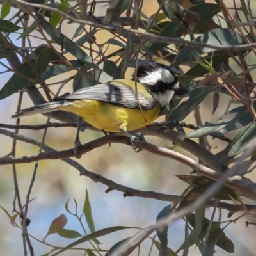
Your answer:
[[[132,76],[132,80],[134,79],[135,75]],[[188,94],[172,70],[157,62],[141,63],[137,68],[137,81],[145,86],[162,108],[172,100],[173,95]]]

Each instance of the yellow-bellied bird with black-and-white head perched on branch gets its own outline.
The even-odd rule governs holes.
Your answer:
[[[184,97],[188,91],[172,70],[161,63],[142,62],[131,80],[116,79],[81,88],[52,102],[22,109],[12,118],[63,110],[102,131],[130,134],[132,142],[141,137],[132,131],[156,120],[174,95]]]

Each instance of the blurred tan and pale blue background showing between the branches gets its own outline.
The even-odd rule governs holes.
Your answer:
[[[212,3],[214,3],[214,1],[212,1]],[[251,3],[255,4],[255,1],[251,1]],[[104,15],[105,8],[106,7],[97,8],[95,15]],[[150,16],[152,13],[156,12],[157,8],[158,5],[156,1],[147,0],[147,3],[146,1],[144,3],[143,12]],[[255,6],[252,6],[252,8],[255,8]],[[11,15],[12,13],[10,16]],[[75,30],[77,28],[77,24],[73,24],[73,26]],[[65,35],[70,37],[74,33],[70,28],[65,30],[65,26],[63,26],[62,31]],[[100,44],[101,42],[105,42],[106,36],[108,36],[107,34],[108,33],[105,35],[102,31],[100,31],[100,33],[96,33],[95,37],[97,43]],[[15,40],[15,38],[12,39]],[[35,38],[32,42],[33,45],[40,45],[41,43],[42,42],[40,42],[40,40]],[[19,41],[17,41],[17,45],[19,45]],[[109,48],[109,52],[111,51],[113,51],[113,49]],[[4,60],[2,61],[4,62]],[[132,68],[129,68],[126,74],[127,79],[129,79],[132,72]],[[73,74],[74,72],[69,72],[66,73],[65,76],[69,77]],[[2,74],[0,76],[0,88],[6,83],[6,81],[8,81],[9,77],[10,74]],[[100,77],[100,81],[108,81],[109,78],[110,77],[106,74],[103,74]],[[64,79],[64,75],[61,75],[61,79]],[[54,83],[54,81],[58,80],[60,80],[60,77],[54,77],[54,79],[47,81],[47,83]],[[53,91],[56,92],[57,89],[57,87],[54,88],[54,86],[52,86]],[[65,86],[61,93],[71,91],[72,84]],[[0,101],[0,109],[2,110],[0,113],[1,122],[6,124],[15,124],[15,120],[11,120],[10,116],[16,111],[18,97],[19,94],[16,93],[15,95],[12,95],[12,97],[8,97],[7,99]],[[220,99],[220,101],[223,102],[227,100],[228,105],[228,100],[230,100],[230,98],[227,97],[227,99],[225,99],[225,96],[221,97],[223,98]],[[25,93],[22,101],[22,108],[32,105],[33,103]],[[202,115],[203,122],[211,122],[224,113],[225,108],[227,108],[227,106],[223,109],[218,108],[214,115],[211,116],[212,95],[209,95],[200,106],[200,113]],[[35,115],[22,118],[21,124],[44,124],[46,120],[47,118],[42,115]],[[160,120],[163,120],[163,118]],[[54,120],[52,120],[52,122],[54,122]],[[189,115],[184,122],[194,124],[195,121],[193,113]],[[20,130],[20,134],[30,136],[37,140],[42,140],[43,132],[43,130]],[[50,128],[47,131],[45,143],[55,150],[72,148],[75,135],[76,129],[74,128]],[[80,139],[82,143],[86,143],[87,141],[99,138],[100,136],[104,136],[104,134],[102,132],[86,130],[80,134]],[[230,132],[229,137],[233,138],[234,134]],[[150,136],[147,136],[146,140],[161,147],[172,147],[172,143],[169,141],[160,140]],[[0,141],[0,156],[3,157],[11,151],[12,139],[0,135]],[[212,152],[218,152],[220,148],[224,148],[226,145],[220,140],[209,139],[209,142],[213,148],[217,147],[216,149],[213,149]],[[184,152],[184,150],[178,147],[176,147],[175,150],[185,154],[186,156],[193,157],[190,156],[188,152]],[[17,141],[17,156],[35,154],[36,152],[38,152],[38,147]],[[188,167],[177,163],[176,161],[154,156],[146,151],[137,154],[131,147],[115,143],[113,143],[110,148],[108,148],[108,145],[105,145],[104,147],[97,148],[92,152],[88,152],[88,154],[83,155],[81,159],[76,159],[76,161],[82,164],[87,170],[99,173],[100,175],[103,175],[114,182],[123,184],[124,186],[170,195],[180,195],[184,189],[187,188],[187,184],[181,182],[177,177],[175,177],[175,175],[189,174],[189,172],[191,172]],[[34,167],[35,163],[17,164],[16,166],[22,204],[26,201],[26,194],[28,193]],[[1,166],[0,170],[0,206],[12,215],[13,198],[15,195],[12,166]],[[254,173],[250,173],[246,177],[252,179],[254,182],[256,180]],[[70,200],[68,206],[70,211],[74,212],[75,204],[73,198],[75,198],[78,204],[78,211],[82,212],[86,189],[88,190],[90,197],[96,230],[118,225],[141,228],[148,227],[155,223],[156,216],[159,211],[161,211],[161,209],[166,205],[170,204],[170,202],[161,202],[152,199],[124,198],[123,194],[119,191],[105,193],[107,189],[106,186],[100,183],[95,183],[87,177],[81,177],[77,170],[68,166],[68,164],[63,163],[63,161],[40,161],[35,184],[30,196],[31,199],[35,198],[35,200],[29,204],[28,209],[28,218],[31,220],[28,227],[29,234],[36,237],[36,239],[42,240],[47,234],[51,221],[60,216],[60,214],[66,214],[68,218],[68,223],[65,228],[77,230],[83,234],[81,225],[79,225],[76,218],[65,211],[65,203],[67,200]],[[247,203],[252,202],[247,200]],[[212,209],[207,209],[207,218],[211,218],[211,213]],[[228,220],[226,219],[227,214],[227,211],[222,212],[223,221]],[[237,218],[238,216],[239,213],[234,214],[232,218]],[[214,218],[214,220],[215,219],[218,220],[218,214],[216,214],[216,218]],[[256,229],[253,225],[246,228],[246,220],[254,221],[252,218],[243,218],[236,223],[229,225],[225,230],[225,234],[232,239],[235,244],[234,255],[255,255],[256,244],[254,243],[254,237],[256,235]],[[0,255],[23,255],[22,232],[19,228],[15,228],[10,224],[8,216],[2,209],[0,209],[0,230]],[[89,232],[88,228],[87,231]],[[239,232],[239,234],[237,234],[237,232]],[[113,244],[132,236],[135,233],[136,230],[124,230],[108,236],[100,237],[99,241],[104,244],[102,248],[109,249]],[[168,229],[168,238],[170,248],[177,250],[184,241],[184,220],[176,221],[170,225],[170,228]],[[57,234],[52,234],[45,240],[46,243],[60,246],[66,246],[73,241],[75,240],[64,239]],[[33,238],[31,239],[31,243],[33,244],[35,255],[43,255],[51,250],[50,247],[39,243]],[[148,255],[150,244],[150,239],[146,239],[141,246],[140,255]],[[79,247],[88,248],[90,247],[90,244],[84,243]],[[215,255],[229,254],[218,247],[216,250],[217,252]],[[151,255],[157,254],[158,251],[154,248]],[[61,255],[83,255],[83,253],[76,250],[69,250]],[[138,250],[135,250],[132,255],[138,255]],[[179,253],[179,255],[181,254]],[[189,255],[200,255],[200,253],[194,246],[194,248],[189,248]]]

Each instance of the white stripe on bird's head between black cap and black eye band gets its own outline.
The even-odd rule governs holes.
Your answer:
[[[156,84],[157,81],[163,81],[163,83],[172,83],[174,81],[173,74],[165,68],[157,68],[153,72],[147,72],[147,76],[139,79],[141,84]]]

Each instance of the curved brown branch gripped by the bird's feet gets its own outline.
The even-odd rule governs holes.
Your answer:
[[[6,131],[3,129],[0,129],[0,134],[4,134],[12,138],[17,138],[17,140],[32,143],[34,145],[41,145],[40,141],[33,140],[32,138],[28,138],[20,134],[15,134],[14,132]],[[129,138],[127,136],[116,136],[116,135],[104,136],[102,138],[98,138],[96,140],[90,141],[82,145],[81,147],[78,148],[77,153],[79,155],[82,155],[82,154],[85,154],[86,152],[90,152],[91,150],[97,147],[101,147],[102,145],[106,145],[109,143],[127,144],[129,143]],[[215,172],[214,170],[207,168],[202,164],[198,164],[193,159],[183,156],[178,152],[174,152],[173,150],[157,147],[155,145],[152,145],[150,143],[147,143],[145,141],[140,141],[140,140],[134,141],[134,145],[136,145],[137,147],[143,148],[148,152],[152,152],[153,154],[168,157],[170,159],[179,161],[180,163],[184,163],[190,168],[192,168],[193,170],[195,170],[195,172],[200,173],[210,179],[219,180],[222,177],[221,173]],[[43,153],[32,154],[29,156],[2,157],[0,159],[0,165],[31,163],[33,161],[39,161],[43,159],[44,160],[45,159],[63,159],[63,158],[65,159],[67,157],[73,157],[73,156],[74,156],[74,152],[72,148],[70,148],[69,150],[63,150],[60,152],[57,152],[56,150],[51,150]],[[81,175],[84,175],[84,174],[81,173]],[[94,173],[93,175],[94,175],[93,180],[97,182],[97,175]],[[248,179],[245,179],[244,177],[241,177],[241,176],[230,177],[226,180],[225,185],[228,186],[229,188],[236,190],[237,193],[239,193],[239,195],[243,195],[252,200],[256,200],[256,184]]]

